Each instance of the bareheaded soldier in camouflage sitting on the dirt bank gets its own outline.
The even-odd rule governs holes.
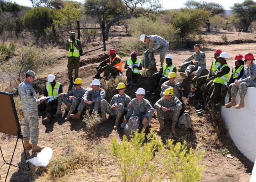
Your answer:
[[[180,76],[183,76],[184,78],[188,78],[188,75],[190,74],[190,72],[196,71],[194,78],[192,78],[192,81],[197,81],[202,71],[206,69],[206,61],[205,61],[205,54],[202,51],[200,51],[199,44],[196,44],[194,46],[194,50],[196,52],[192,54],[190,57],[188,57],[187,59],[185,59],[183,62],[188,62],[193,59],[195,59],[196,61],[193,62],[193,65],[188,66],[185,72],[180,72]]]

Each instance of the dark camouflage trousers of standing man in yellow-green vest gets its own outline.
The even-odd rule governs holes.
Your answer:
[[[74,80],[78,78],[78,69],[80,67],[80,57],[68,57],[68,79],[73,79],[73,69],[75,70]]]

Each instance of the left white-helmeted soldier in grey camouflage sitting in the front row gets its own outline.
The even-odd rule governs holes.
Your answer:
[[[92,89],[84,93],[82,101],[77,108],[77,113],[70,114],[70,117],[80,119],[80,115],[85,107],[92,110],[92,114],[99,112],[100,101],[106,97],[106,93],[102,88],[100,88],[99,80],[92,80],[90,85],[92,86]]]

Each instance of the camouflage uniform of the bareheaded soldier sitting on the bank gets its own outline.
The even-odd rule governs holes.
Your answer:
[[[206,61],[205,61],[205,54],[199,50],[198,53],[194,53],[192,54],[190,57],[188,57],[187,59],[185,59],[183,62],[189,62],[191,60],[195,59],[195,61],[197,62],[196,65],[189,65],[186,68],[185,72],[188,72],[188,74],[192,71],[196,70],[195,75],[197,75],[198,77],[200,76],[200,74],[202,73],[203,70],[206,69]]]

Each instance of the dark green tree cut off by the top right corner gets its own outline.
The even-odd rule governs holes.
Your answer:
[[[256,20],[256,2],[245,0],[242,3],[235,3],[230,8],[231,12],[242,22],[243,31],[247,32],[251,23]]]

